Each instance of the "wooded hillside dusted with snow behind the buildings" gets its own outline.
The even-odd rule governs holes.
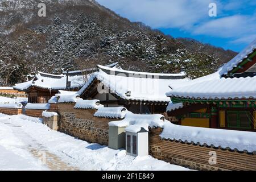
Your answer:
[[[38,3],[46,3],[46,17]],[[133,71],[207,75],[236,52],[174,39],[133,23],[96,1],[0,1],[0,85],[37,71],[60,73],[119,62]]]

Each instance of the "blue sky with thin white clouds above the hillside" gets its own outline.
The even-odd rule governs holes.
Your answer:
[[[133,22],[171,36],[194,38],[241,51],[256,39],[256,1],[249,0],[96,0]],[[209,16],[216,3],[217,16]]]

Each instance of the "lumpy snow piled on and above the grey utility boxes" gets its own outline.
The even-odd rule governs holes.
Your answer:
[[[164,116],[161,114],[134,114],[127,111],[122,121],[109,122],[109,126],[126,127],[126,131],[137,133],[144,128],[148,131],[148,127],[162,127]]]

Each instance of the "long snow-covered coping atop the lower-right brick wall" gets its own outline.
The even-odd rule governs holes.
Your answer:
[[[182,140],[200,145],[237,149],[238,151],[256,151],[256,133],[249,131],[235,131],[223,129],[208,129],[203,127],[189,127],[164,122],[163,139]]]

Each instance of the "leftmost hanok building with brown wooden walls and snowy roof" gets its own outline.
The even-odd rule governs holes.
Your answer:
[[[31,81],[15,84],[13,88],[26,92],[29,103],[47,103],[59,90],[78,91],[84,83],[82,75],[52,75],[38,72]]]

